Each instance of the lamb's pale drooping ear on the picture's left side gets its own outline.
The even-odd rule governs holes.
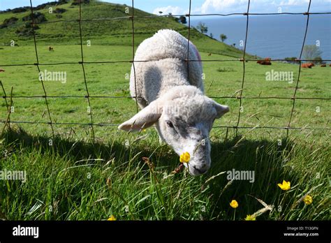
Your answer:
[[[144,109],[140,110],[128,121],[124,121],[119,125],[119,129],[124,131],[140,131],[144,128],[152,126],[162,115],[161,102],[156,100],[152,101]]]

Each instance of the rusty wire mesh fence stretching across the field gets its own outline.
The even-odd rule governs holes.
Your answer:
[[[192,0],[189,1],[189,13],[187,13],[185,16],[188,18],[188,47],[187,47],[187,56],[186,59],[182,61],[186,61],[187,68],[189,69],[189,62],[190,61],[202,61],[202,62],[227,62],[227,61],[239,61],[242,62],[242,80],[241,80],[241,87],[240,91],[237,93],[237,95],[233,96],[209,96],[209,98],[232,98],[237,99],[239,101],[239,107],[237,108],[237,121],[235,126],[214,126],[214,128],[233,128],[235,129],[235,133],[237,134],[238,129],[252,129],[252,128],[267,128],[267,129],[282,129],[286,130],[286,134],[288,135],[288,131],[293,130],[301,130],[301,129],[309,129],[309,130],[331,130],[329,127],[316,127],[316,128],[310,128],[310,127],[295,127],[291,126],[291,122],[293,119],[293,112],[295,110],[295,101],[296,100],[323,100],[323,101],[330,101],[331,98],[325,98],[325,97],[297,97],[297,91],[300,83],[300,73],[302,68],[302,62],[303,61],[315,61],[310,59],[302,59],[302,53],[304,50],[304,45],[307,38],[307,30],[309,27],[309,16],[310,15],[330,15],[331,13],[310,13],[309,10],[311,8],[311,0],[309,0],[308,6],[307,6],[307,12],[305,13],[250,13],[250,6],[251,1],[247,1],[247,12],[246,13],[228,13],[228,14],[191,14],[191,6],[192,6]],[[2,98],[4,99],[6,103],[6,117],[1,117],[0,122],[5,124],[5,126],[10,126],[10,124],[46,124],[49,125],[52,130],[52,136],[54,137],[56,134],[54,132],[54,126],[61,126],[61,125],[82,125],[82,126],[89,126],[91,128],[91,137],[95,138],[94,134],[94,126],[118,126],[119,124],[112,124],[112,123],[96,123],[94,122],[94,114],[93,114],[93,103],[91,103],[91,98],[134,98],[135,99],[135,108],[136,112],[138,112],[138,101],[137,98],[139,98],[137,95],[135,96],[91,96],[89,93],[89,87],[87,84],[87,75],[84,66],[85,65],[93,65],[93,64],[120,64],[120,63],[129,63],[133,66],[133,77],[135,79],[135,63],[138,62],[147,62],[147,61],[156,61],[156,60],[135,60],[135,19],[138,18],[158,18],[158,17],[166,17],[170,15],[146,15],[146,16],[135,16],[134,15],[134,0],[131,1],[131,8],[132,13],[131,15],[125,16],[125,17],[112,17],[112,18],[90,18],[90,19],[82,19],[82,1],[78,0],[78,6],[79,6],[79,13],[78,13],[78,19],[75,20],[54,20],[54,21],[47,21],[47,22],[41,22],[38,24],[51,24],[55,22],[78,22],[79,26],[79,36],[80,36],[80,60],[79,61],[60,61],[60,62],[52,62],[52,63],[42,63],[38,59],[38,50],[37,50],[37,42],[36,42],[36,31],[35,31],[35,25],[36,22],[34,20],[34,7],[33,7],[33,0],[30,0],[30,10],[31,10],[31,31],[33,33],[33,40],[34,40],[34,49],[36,54],[36,62],[34,63],[26,63],[26,64],[0,64],[0,66],[6,67],[6,66],[36,66],[38,73],[41,72],[40,66],[56,66],[56,65],[69,65],[69,64],[78,64],[82,68],[82,74],[83,74],[83,80],[84,80],[84,89],[86,91],[86,95],[84,96],[74,96],[74,95],[67,95],[67,96],[49,96],[47,95],[47,91],[45,89],[45,84],[43,78],[40,78],[41,86],[43,88],[43,95],[42,96],[29,96],[29,95],[19,95],[19,96],[13,96],[13,87],[11,89],[10,95],[8,95],[8,91],[6,93],[6,90],[3,87],[3,83],[0,80],[1,89],[3,91]],[[244,38],[244,50],[242,54],[242,58],[233,57],[233,59],[202,59],[202,60],[194,60],[189,59],[189,45],[190,45],[190,38],[191,38],[191,17],[194,16],[231,16],[231,15],[244,15],[246,17],[246,28],[245,28],[245,38]],[[249,35],[249,16],[250,15],[304,15],[307,17],[306,25],[304,29],[304,38],[302,40],[302,47],[300,51],[300,56],[298,59],[295,59],[294,61],[299,64],[298,65],[298,75],[297,80],[295,82],[295,89],[293,92],[293,96],[286,97],[286,96],[244,96],[244,87],[245,87],[245,74],[246,66],[245,63],[248,61],[258,61],[258,59],[251,59],[246,58],[247,52],[247,36]],[[179,17],[181,15],[171,15],[173,17]],[[131,31],[132,31],[132,58],[130,60],[119,60],[119,61],[84,61],[84,50],[83,50],[83,38],[82,38],[82,22],[94,22],[94,21],[114,21],[114,20],[131,20]],[[263,61],[263,60],[261,60]],[[286,59],[272,59],[272,61],[287,61]],[[331,61],[330,59],[323,59],[321,61]],[[188,70],[189,73],[189,70]],[[136,94],[136,92],[135,92]],[[10,113],[11,113],[11,104],[13,103],[13,100],[16,98],[43,98],[45,100],[45,108],[47,110],[47,116],[48,120],[45,121],[13,121],[10,120]],[[89,105],[90,111],[89,111],[89,123],[82,123],[82,122],[57,122],[53,121],[52,119],[52,112],[49,105],[49,100],[51,98],[84,98],[87,100],[87,103]],[[288,117],[288,122],[286,126],[240,126],[241,121],[241,108],[242,103],[244,99],[283,99],[283,100],[289,100],[292,101],[291,109],[290,109],[290,116]],[[227,130],[228,131],[228,130]]]

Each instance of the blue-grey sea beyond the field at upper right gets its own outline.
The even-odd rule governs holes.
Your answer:
[[[191,27],[203,22],[207,34],[224,43],[244,48],[247,16],[191,17]],[[249,15],[246,52],[258,57],[284,59],[300,57],[307,15]],[[331,59],[331,14],[309,15],[307,37],[304,45],[317,45],[323,59]],[[303,57],[302,57],[303,59]]]

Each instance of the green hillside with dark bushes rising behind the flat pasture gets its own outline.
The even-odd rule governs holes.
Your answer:
[[[34,9],[36,38],[38,45],[73,45],[80,43],[79,6],[68,3],[45,3]],[[49,8],[52,7],[52,13]],[[126,13],[126,8],[128,12]],[[20,13],[17,13],[20,12]],[[132,45],[132,22],[128,18],[132,8],[126,5],[91,1],[82,4],[82,36],[93,40],[96,45]],[[150,13],[134,9],[135,45],[152,36],[159,29],[175,29],[183,36],[188,36],[188,28],[177,22],[175,17],[154,17]],[[145,16],[145,17],[144,17]],[[127,17],[127,18],[126,18]],[[105,19],[108,20],[100,20]],[[109,20],[114,19],[115,20]],[[98,19],[89,21],[91,19]],[[70,21],[72,20],[72,21]],[[70,21],[70,22],[68,22]],[[33,32],[31,28],[29,7],[15,8],[0,13],[0,45],[8,45],[15,40],[17,45],[31,45]],[[230,45],[200,34],[191,29],[191,40],[203,52],[242,57],[242,51]]]

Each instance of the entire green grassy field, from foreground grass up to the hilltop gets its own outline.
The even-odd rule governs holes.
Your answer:
[[[78,7],[62,5],[67,11],[63,20],[78,17]],[[135,10],[136,15],[150,15]],[[48,21],[56,20],[45,13]],[[82,6],[84,18],[122,17],[124,6],[91,3]],[[18,46],[0,47],[0,80],[10,95],[43,96],[31,36],[17,36],[15,29],[27,13],[1,13],[0,24],[8,17],[20,19],[11,27],[0,29],[0,43],[15,40]],[[160,21],[159,21],[160,20]],[[58,123],[89,123],[88,103],[84,96],[84,76],[80,56],[78,23],[43,23],[37,33],[37,50],[41,71],[66,72],[66,82],[45,81],[47,96],[80,96],[80,98],[47,98],[52,120]],[[187,36],[187,29],[170,17],[135,20],[135,45],[161,28],[176,29]],[[84,61],[128,61],[132,58],[131,22],[83,22]],[[204,60],[237,59],[240,50],[219,43],[192,30],[192,41]],[[52,45],[54,51],[49,51]],[[212,53],[210,55],[210,53]],[[231,57],[229,57],[229,55]],[[248,57],[253,58],[248,55]],[[76,64],[55,64],[75,62]],[[126,74],[130,63],[84,64],[90,96],[91,113],[96,124],[120,124],[135,114],[135,101],[129,96]],[[242,85],[243,63],[240,61],[206,61],[207,96],[237,96]],[[244,97],[279,96],[288,99],[244,99],[240,126],[288,125],[299,66],[273,61],[260,66],[245,63]],[[293,72],[293,82],[267,81],[267,72]],[[330,98],[331,67],[302,69],[297,97]],[[3,95],[0,89],[1,95]],[[214,98],[230,106],[230,112],[215,126],[235,126],[240,111],[237,98]],[[7,99],[10,102],[10,99]],[[291,126],[330,128],[330,101],[296,100]],[[44,98],[13,98],[11,121],[48,122]],[[6,102],[0,103],[0,119],[8,117]],[[1,131],[3,123],[0,124]],[[167,145],[159,145],[154,129],[128,134],[116,126],[54,126],[52,138],[48,124],[11,124],[0,140],[0,171],[23,170],[27,181],[0,181],[0,219],[11,220],[242,220],[264,208],[259,200],[272,207],[257,220],[326,220],[330,219],[330,131],[253,128],[213,128],[212,168],[206,175],[192,177],[186,171],[172,174],[179,157]],[[52,143],[50,143],[52,139]],[[149,158],[149,167],[142,160]],[[229,180],[230,170],[252,170],[255,182]],[[282,191],[278,183],[285,179],[291,188]],[[309,194],[313,203],[305,205]],[[237,200],[239,207],[229,203]]]

